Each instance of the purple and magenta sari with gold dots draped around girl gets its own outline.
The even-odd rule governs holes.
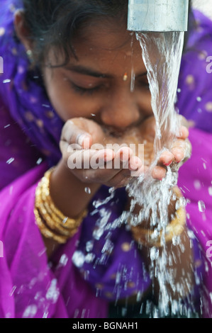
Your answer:
[[[29,69],[23,46],[13,37],[14,2],[1,0],[0,5],[5,11],[0,18],[0,55],[4,57],[4,73],[0,77],[0,240],[4,244],[4,256],[0,258],[0,317],[107,317],[110,301],[143,294],[151,284],[130,232],[120,225],[113,228],[113,222],[125,206],[125,189],[116,191],[111,201],[97,210],[93,203],[104,201],[110,195],[109,189],[102,186],[90,203],[89,215],[77,235],[48,261],[33,215],[35,187],[45,170],[60,159],[58,141],[63,124],[39,84],[39,72]],[[211,31],[211,21],[199,13],[196,15],[203,21],[204,31]],[[189,47],[201,45],[202,50],[204,45],[212,55],[212,42],[204,44],[205,33],[201,31],[201,38],[199,34],[195,31],[191,35]],[[184,56],[179,80],[182,91],[179,111],[190,120],[198,121],[196,128],[191,129],[193,154],[179,172],[179,186],[189,198],[188,225],[199,242],[195,258],[202,258],[202,262],[200,259],[196,262],[196,270],[203,268],[204,259],[208,261],[208,271],[203,271],[199,288],[207,290],[206,297],[211,302],[212,272],[210,258],[206,257],[206,241],[212,239],[209,189],[212,117],[208,112],[210,104],[207,104],[212,98],[208,89],[212,74],[207,77],[210,85],[203,89],[205,80],[196,80],[199,86],[191,92],[185,75],[193,74],[194,62],[196,76],[199,76],[198,63],[203,64],[203,60],[191,50]],[[191,72],[189,66],[192,66]],[[201,72],[202,76],[206,74]],[[201,96],[201,102],[197,103],[196,96]],[[202,117],[198,118],[199,108]],[[204,211],[199,211],[199,201],[204,202]],[[108,228],[101,225],[101,217],[106,218]],[[211,316],[211,303],[206,309],[203,309],[205,315]]]

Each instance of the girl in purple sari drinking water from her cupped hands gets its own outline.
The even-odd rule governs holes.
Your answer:
[[[128,147],[93,149],[117,135],[125,142],[128,130],[150,146],[154,140],[147,73],[140,45],[126,30],[127,5],[125,0],[24,0],[23,9],[9,0],[1,5],[1,317],[107,317],[110,304],[116,311],[126,304],[128,310],[130,305],[140,310],[150,300],[157,304],[160,290],[149,271],[152,244],[146,237],[144,247],[137,243],[144,221],[137,233],[113,227],[128,206],[125,185],[132,171],[143,171],[143,162]],[[184,162],[187,136],[182,126],[153,178],[162,179],[172,162]],[[77,153],[70,145],[77,145]],[[70,168],[68,162],[81,152],[89,165],[92,157],[121,165]],[[167,239],[173,285],[179,286],[169,292],[188,314],[194,309],[185,300],[192,298],[194,305],[196,296],[196,247],[183,215],[175,218],[174,200],[168,214],[171,226],[183,224],[184,249]]]

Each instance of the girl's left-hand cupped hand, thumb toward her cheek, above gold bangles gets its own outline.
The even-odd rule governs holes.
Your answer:
[[[112,143],[117,143],[116,149],[108,147]],[[143,167],[130,147],[121,145],[120,139],[87,118],[72,118],[65,123],[60,150],[72,173],[85,183],[122,187],[133,171]]]

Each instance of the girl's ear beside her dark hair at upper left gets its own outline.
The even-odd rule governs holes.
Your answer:
[[[33,43],[29,38],[29,30],[24,20],[24,11],[21,9],[18,9],[14,14],[14,26],[16,35],[18,36],[18,39],[21,40],[21,43],[26,48],[26,51],[32,50]]]

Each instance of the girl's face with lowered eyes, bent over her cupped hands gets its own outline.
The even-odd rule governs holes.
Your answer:
[[[44,67],[48,96],[60,117],[91,118],[114,130],[136,126],[152,115],[141,48],[135,34],[118,23],[93,23],[74,40],[77,59],[65,67]],[[61,64],[51,50],[46,59]],[[133,84],[133,90],[131,85]]]

